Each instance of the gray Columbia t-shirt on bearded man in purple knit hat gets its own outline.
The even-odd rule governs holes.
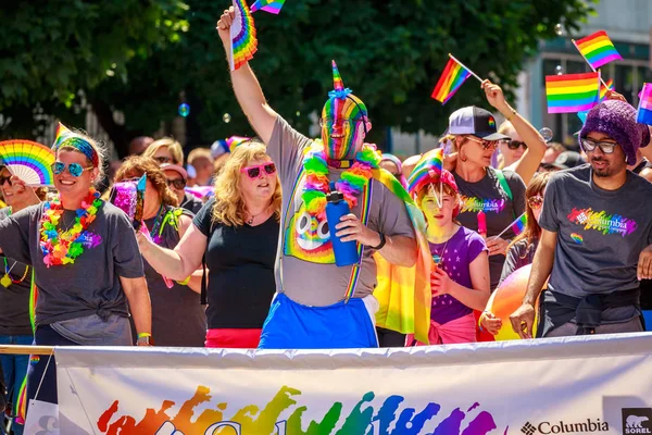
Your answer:
[[[539,222],[557,233],[549,288],[575,298],[639,287],[639,254],[652,244],[652,184],[627,171],[603,190],[585,164],[548,182]]]

